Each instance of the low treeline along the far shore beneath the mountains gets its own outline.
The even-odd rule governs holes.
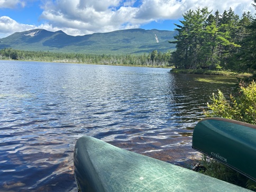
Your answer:
[[[83,54],[83,53],[58,53],[44,51],[22,51],[12,48],[0,50],[0,59],[25,60],[25,61],[47,61],[47,62],[71,62],[90,63],[104,65],[127,65],[127,66],[170,66],[171,52],[161,53],[157,50],[148,54],[133,55],[108,55],[108,54]]]

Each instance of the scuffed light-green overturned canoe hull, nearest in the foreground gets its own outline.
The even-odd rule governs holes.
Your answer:
[[[74,151],[79,191],[250,191],[83,136]]]

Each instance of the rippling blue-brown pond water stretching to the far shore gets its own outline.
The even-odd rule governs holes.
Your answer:
[[[236,80],[169,71],[0,61],[0,191],[76,191],[82,135],[186,166],[200,107]]]

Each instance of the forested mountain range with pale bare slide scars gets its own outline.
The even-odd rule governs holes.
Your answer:
[[[108,33],[71,36],[63,31],[34,29],[16,32],[0,39],[0,49],[27,51],[77,52],[93,54],[143,54],[153,50],[166,52],[175,49],[176,31],[129,29]]]

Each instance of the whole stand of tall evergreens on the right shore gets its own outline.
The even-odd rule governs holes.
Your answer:
[[[256,3],[256,0],[253,1]],[[255,8],[255,4],[252,4]],[[250,12],[240,18],[232,9],[214,14],[207,7],[183,14],[175,36],[172,63],[183,69],[256,71],[256,20]]]

